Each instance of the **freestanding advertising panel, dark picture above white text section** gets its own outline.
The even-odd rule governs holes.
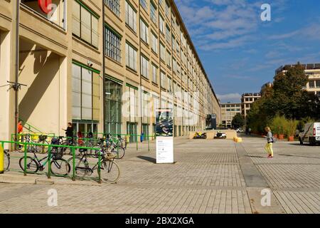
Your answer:
[[[171,108],[156,109],[156,163],[174,163],[174,116]]]

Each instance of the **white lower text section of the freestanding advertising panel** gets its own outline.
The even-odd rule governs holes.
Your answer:
[[[174,163],[174,138],[156,138],[156,163]]]

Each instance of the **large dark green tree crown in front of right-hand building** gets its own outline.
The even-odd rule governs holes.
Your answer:
[[[299,63],[286,73],[274,76],[273,86],[267,88],[262,98],[253,103],[247,115],[249,128],[262,133],[276,115],[294,120],[319,119],[319,98],[304,89],[307,82],[308,76]]]

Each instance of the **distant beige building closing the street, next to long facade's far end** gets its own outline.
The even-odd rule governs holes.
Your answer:
[[[225,128],[232,128],[233,117],[241,114],[241,103],[221,104],[221,124]]]

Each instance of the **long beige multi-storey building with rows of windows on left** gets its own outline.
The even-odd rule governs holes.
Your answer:
[[[220,123],[218,98],[174,1],[52,3],[48,11],[21,0],[17,29],[17,1],[0,1],[0,86],[15,81],[18,48],[23,122],[60,135],[68,122],[81,132],[151,134],[155,109],[169,107],[175,135],[204,129],[207,114]],[[8,89],[0,87],[2,139],[15,125]]]

